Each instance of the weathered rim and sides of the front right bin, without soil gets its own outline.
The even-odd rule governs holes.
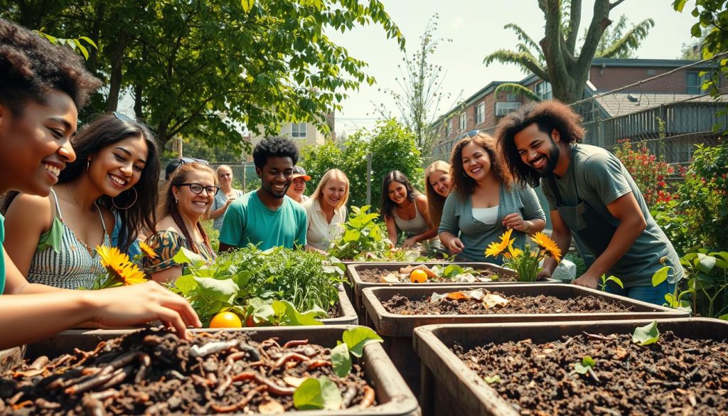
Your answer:
[[[451,351],[457,342],[465,349],[491,342],[553,342],[582,331],[596,334],[631,333],[652,320],[574,321],[548,323],[479,323],[475,325],[428,325],[414,331],[414,349],[422,358],[423,415],[518,416],[513,407],[487,382]],[[708,318],[657,320],[660,331],[673,331],[678,337],[724,340],[728,322]]]

